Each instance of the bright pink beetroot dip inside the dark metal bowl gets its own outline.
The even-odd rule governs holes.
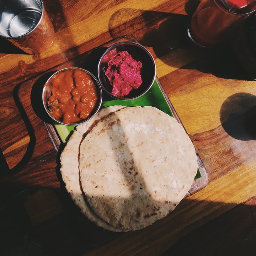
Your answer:
[[[108,62],[105,72],[113,86],[111,94],[117,97],[126,96],[142,84],[140,70],[142,63],[132,58],[127,51],[114,54]]]

